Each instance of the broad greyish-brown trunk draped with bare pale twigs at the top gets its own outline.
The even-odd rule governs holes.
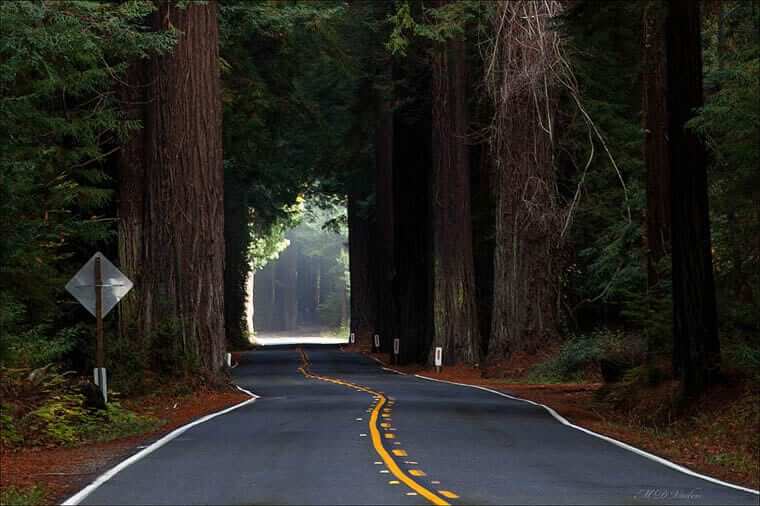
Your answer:
[[[557,334],[560,211],[554,172],[557,2],[500,2],[491,76],[496,164],[494,295],[488,360],[535,353]],[[500,28],[503,23],[503,27]]]

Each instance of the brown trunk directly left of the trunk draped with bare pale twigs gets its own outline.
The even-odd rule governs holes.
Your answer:
[[[446,364],[476,363],[478,319],[472,255],[467,146],[467,71],[463,37],[433,54],[432,180],[433,338]]]

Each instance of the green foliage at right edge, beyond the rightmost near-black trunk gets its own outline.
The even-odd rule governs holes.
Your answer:
[[[705,105],[689,126],[713,155],[708,173],[718,309],[724,333],[760,334],[760,8],[721,2],[705,20]]]

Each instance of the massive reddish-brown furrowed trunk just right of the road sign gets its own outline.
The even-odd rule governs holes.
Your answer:
[[[174,50],[150,62],[145,321],[160,350],[210,374],[224,352],[224,174],[217,6],[161,2]],[[159,332],[161,329],[161,332]]]

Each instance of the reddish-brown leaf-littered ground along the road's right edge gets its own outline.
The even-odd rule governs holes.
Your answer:
[[[358,350],[357,350],[358,351]],[[387,364],[387,354],[368,354]],[[551,407],[570,422],[623,441],[689,469],[753,489],[760,488],[760,390],[728,376],[688,408],[675,409],[677,385],[605,385],[598,375],[577,383],[531,383],[542,358],[520,356],[483,370],[388,365],[406,374],[478,385]],[[508,377],[504,372],[509,371]]]

